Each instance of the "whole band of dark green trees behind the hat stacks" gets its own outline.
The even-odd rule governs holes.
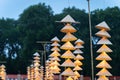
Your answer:
[[[7,68],[7,73],[26,73],[26,68],[32,63],[33,54],[38,50],[43,50],[41,44],[37,41],[50,41],[54,36],[61,39],[65,34],[60,32],[64,24],[56,23],[60,21],[67,14],[70,14],[80,24],[73,24],[77,29],[74,35],[82,39],[84,44],[83,56],[83,71],[84,75],[91,75],[91,62],[90,62],[90,48],[89,48],[89,24],[88,13],[85,10],[80,10],[75,7],[65,8],[62,13],[53,14],[50,6],[44,3],[32,5],[25,9],[18,20],[14,19],[0,19],[0,61],[4,63]],[[92,20],[92,35],[98,31],[95,25],[102,21],[106,21],[110,26],[109,32],[112,38],[110,41],[113,43],[111,49],[113,53],[109,55],[113,59],[110,61],[113,67],[110,72],[113,75],[120,75],[120,8],[106,8],[97,9],[91,12]],[[98,38],[97,38],[98,39]],[[93,44],[94,59],[98,55],[96,53],[99,47]],[[49,52],[50,53],[50,52]],[[41,54],[41,53],[40,53]],[[62,54],[62,53],[61,53]],[[48,55],[48,54],[47,54]],[[94,66],[98,62],[94,60]],[[95,73],[97,69],[95,68]]]

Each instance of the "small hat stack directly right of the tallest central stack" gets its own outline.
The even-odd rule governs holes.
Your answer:
[[[83,65],[81,60],[84,59],[84,57],[81,55],[83,52],[80,50],[80,48],[83,48],[83,45],[84,42],[81,40],[81,39],[78,39],[76,42],[75,42],[75,48],[76,50],[73,52],[74,54],[76,54],[76,57],[74,58],[74,64],[75,64],[75,68],[73,69],[74,70],[74,73],[75,73],[75,76],[74,76],[74,79],[78,79],[80,77],[80,74],[78,71],[82,70],[81,66]]]

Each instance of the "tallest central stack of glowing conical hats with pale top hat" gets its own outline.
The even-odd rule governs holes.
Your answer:
[[[65,26],[61,29],[61,32],[66,33],[66,35],[62,38],[62,42],[65,42],[60,48],[65,50],[65,53],[61,55],[61,58],[65,58],[65,62],[61,64],[61,66],[66,67],[66,70],[61,73],[61,75],[68,76],[67,79],[72,80],[70,76],[74,76],[74,72],[72,71],[71,67],[75,67],[75,64],[72,62],[71,59],[74,59],[75,56],[72,53],[72,50],[75,50],[75,47],[71,43],[72,41],[77,40],[77,38],[72,34],[77,30],[72,26],[72,23],[76,22],[70,15],[67,15],[61,21],[65,23]]]

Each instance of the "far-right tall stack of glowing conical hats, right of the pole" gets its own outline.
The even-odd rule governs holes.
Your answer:
[[[112,52],[112,50],[107,46],[107,45],[112,45],[112,43],[108,40],[108,38],[111,38],[111,36],[107,32],[110,30],[110,28],[105,21],[96,25],[96,28],[100,29],[100,31],[97,32],[96,35],[101,37],[101,39],[97,42],[97,44],[102,45],[97,50],[97,52],[100,53],[100,55],[96,57],[96,60],[101,61],[96,67],[102,69],[96,75],[99,76],[98,80],[108,80],[107,76],[112,76],[112,74],[107,70],[112,68],[107,62],[112,60],[110,56],[107,54]]]

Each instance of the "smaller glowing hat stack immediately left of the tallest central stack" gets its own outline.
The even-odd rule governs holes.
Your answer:
[[[53,47],[51,49],[51,51],[53,51],[53,52],[50,54],[51,61],[52,61],[50,66],[52,68],[52,72],[54,74],[58,74],[58,73],[60,73],[60,68],[58,67],[58,66],[60,66],[60,64],[58,63],[58,61],[60,61],[60,59],[59,59],[60,44],[58,43],[58,42],[60,42],[60,40],[57,37],[54,37],[51,41],[52,41],[51,46]]]

